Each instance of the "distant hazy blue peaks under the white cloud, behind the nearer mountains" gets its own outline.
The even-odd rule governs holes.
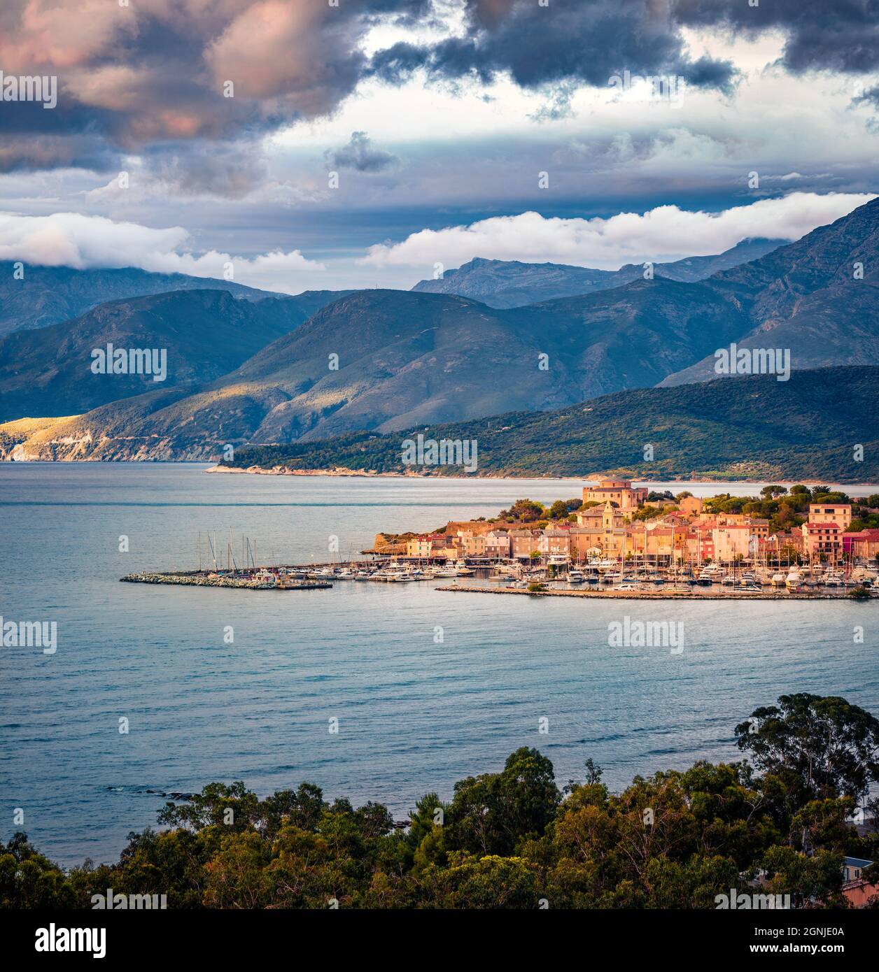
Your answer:
[[[653,274],[695,283],[720,270],[756,260],[784,244],[783,240],[747,239],[712,257],[686,257],[671,263],[655,263]],[[418,294],[456,294],[489,307],[521,307],[525,304],[593,294],[620,287],[644,276],[641,263],[626,263],[618,270],[593,270],[564,263],[522,263],[518,260],[470,260],[456,270],[446,270],[436,280],[421,280],[412,288]]]

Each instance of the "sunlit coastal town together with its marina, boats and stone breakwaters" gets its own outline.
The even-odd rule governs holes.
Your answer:
[[[651,598],[879,595],[879,496],[817,486],[699,498],[601,478],[579,499],[517,500],[497,516],[430,533],[378,534],[360,559],[331,563],[261,565],[243,537],[240,559],[229,541],[224,563],[224,551],[208,543],[207,569],[199,538],[197,571],[123,580],[256,590],[451,580],[440,589]]]

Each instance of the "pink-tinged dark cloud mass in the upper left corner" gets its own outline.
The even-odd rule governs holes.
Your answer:
[[[9,111],[4,104],[0,121],[40,135],[99,134],[128,151],[253,137],[332,114],[366,70],[362,46],[376,22],[411,23],[430,7],[431,0],[137,0],[124,7],[5,0],[0,66],[8,75],[56,76],[58,106]],[[51,164],[23,151],[21,159]],[[64,159],[59,153],[58,164]]]

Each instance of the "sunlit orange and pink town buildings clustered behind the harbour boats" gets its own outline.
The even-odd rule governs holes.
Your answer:
[[[807,487],[800,489],[809,496]],[[783,487],[769,490],[787,493]],[[584,486],[580,501],[561,501],[549,510],[521,501],[512,515],[525,518],[510,521],[510,511],[504,511],[495,520],[449,523],[442,532],[386,544],[386,552],[417,561],[619,568],[637,563],[657,569],[773,564],[832,574],[875,561],[879,553],[879,529],[850,529],[853,503],[809,502],[804,522],[777,531],[768,517],[716,511],[717,505],[686,492],[651,496],[629,480],[602,479]]]

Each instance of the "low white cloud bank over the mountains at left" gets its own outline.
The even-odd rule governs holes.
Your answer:
[[[239,284],[290,294],[302,290],[297,275],[325,269],[323,263],[308,260],[299,250],[277,250],[251,258],[217,250],[195,254],[190,233],[182,226],[157,229],[80,213],[0,213],[0,260],[77,270],[136,266],[195,277],[223,277],[230,265]]]

